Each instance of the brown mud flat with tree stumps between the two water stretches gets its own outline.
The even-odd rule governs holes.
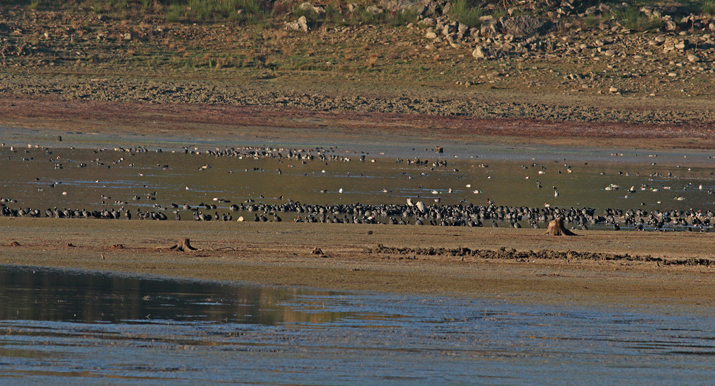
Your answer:
[[[709,234],[579,233],[559,237],[538,229],[0,218],[0,264],[545,303],[693,305],[715,299],[709,254],[715,237]],[[198,250],[169,250],[184,237]],[[378,253],[379,244],[386,249],[497,252]],[[312,254],[315,247],[323,254]],[[528,254],[543,250],[572,253]],[[603,259],[586,259],[595,255],[577,252]]]

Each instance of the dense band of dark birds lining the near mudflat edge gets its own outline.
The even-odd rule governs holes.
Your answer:
[[[6,199],[3,199],[6,201]],[[6,202],[11,202],[7,200]],[[596,213],[595,208],[530,208],[526,206],[496,206],[488,200],[487,205],[473,204],[457,205],[427,205],[423,201],[413,203],[410,199],[404,205],[381,204],[366,205],[360,203],[341,203],[333,205],[307,204],[289,200],[280,204],[240,203],[232,204],[227,213],[218,213],[215,204],[200,206],[179,206],[172,204],[174,220],[181,220],[180,211],[191,211],[194,221],[232,221],[230,212],[251,213],[252,221],[280,222],[279,213],[290,213],[293,221],[298,223],[366,223],[395,225],[433,225],[433,226],[509,226],[521,228],[522,223],[533,228],[541,228],[554,218],[563,218],[572,228],[588,229],[588,226],[612,228],[620,230],[622,226],[636,230],[689,230],[710,231],[711,221],[715,219],[712,211],[644,211],[607,208],[602,213]],[[210,213],[213,211],[214,213]],[[87,211],[85,209],[48,208],[42,212],[36,208],[10,208],[5,202],[0,202],[0,215],[11,217],[52,217],[52,218],[104,218],[131,220],[169,220],[163,211],[132,211],[127,208],[102,209]],[[285,214],[284,214],[285,216]],[[250,214],[239,216],[238,221],[250,221]]]

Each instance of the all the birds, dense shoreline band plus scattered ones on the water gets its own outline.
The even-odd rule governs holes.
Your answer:
[[[19,149],[18,149],[19,150]],[[17,152],[16,148],[12,147],[12,152]],[[51,155],[52,151],[49,148],[41,148],[47,155]],[[109,148],[99,148],[94,150],[94,153],[102,153]],[[136,155],[137,153],[147,153],[150,150],[139,146],[136,148],[114,148],[115,151],[120,153],[129,153],[129,155]],[[162,153],[162,149],[154,150],[157,153]],[[25,150],[29,153],[28,150]],[[177,150],[174,150],[176,153]],[[365,162],[368,160],[366,155],[369,153],[365,152],[352,152],[347,155],[340,155],[336,153],[336,148],[308,148],[308,149],[297,149],[297,148],[263,148],[263,147],[245,147],[245,148],[226,148],[226,149],[216,149],[216,150],[198,150],[197,148],[189,149],[183,148],[178,150],[179,153],[191,154],[191,155],[207,155],[209,157],[235,157],[235,158],[271,158],[277,159],[280,163],[283,160],[298,160],[302,163],[307,163],[311,160],[317,160],[325,162],[350,162],[352,160],[358,160],[360,162]],[[31,160],[32,158],[23,158],[23,160]],[[104,165],[107,163],[109,165],[117,165],[122,163],[127,158],[121,157],[114,161],[102,161],[99,158],[94,159],[92,162],[97,165]],[[374,162],[374,159],[370,160]],[[397,163],[405,163],[408,165],[415,165],[420,168],[428,168],[429,170],[435,170],[435,168],[448,168],[454,165],[453,163],[448,163],[446,160],[420,160],[420,158],[413,159],[399,159],[396,160]],[[79,167],[84,168],[87,163],[80,163]],[[130,166],[134,166],[131,164]],[[287,165],[287,167],[290,165]],[[480,168],[488,168],[488,165],[480,164]],[[522,168],[536,167],[536,163],[531,165],[522,165]],[[571,173],[571,167],[569,165],[563,165],[567,173]],[[159,165],[164,170],[169,168],[169,165]],[[63,164],[59,162],[59,157],[57,161],[54,162],[54,168],[63,168]],[[201,166],[200,170],[211,169],[212,166],[204,164]],[[454,168],[455,172],[459,170]],[[541,166],[541,170],[538,170],[538,174],[546,174],[545,167]],[[279,174],[282,174],[280,168],[277,169]],[[229,172],[231,173],[231,172]],[[325,170],[323,170],[325,173]],[[561,173],[561,170],[558,170]],[[349,174],[349,173],[348,173]],[[658,173],[656,173],[658,174]],[[425,175],[425,173],[422,173]],[[488,175],[487,178],[491,176]],[[527,176],[526,178],[531,178]],[[537,188],[542,188],[541,182],[536,181]],[[692,184],[690,184],[692,185]],[[52,187],[55,183],[51,184]],[[471,184],[465,185],[469,188],[468,191],[475,194],[483,193],[481,190],[472,189]],[[189,186],[185,187],[189,190]],[[422,187],[420,187],[422,188]],[[628,189],[628,193],[635,193],[637,190],[669,190],[670,187],[663,186],[660,188],[648,188],[647,185],[641,185],[640,188],[635,188],[631,186]],[[620,186],[616,184],[611,184],[606,186],[605,190],[619,190]],[[687,187],[686,187],[687,189]],[[697,187],[698,190],[702,190],[702,185]],[[39,190],[42,190],[40,188]],[[322,192],[327,192],[327,190],[321,190]],[[440,190],[427,190],[433,195],[440,195],[445,193]],[[453,193],[453,190],[449,188],[445,190],[447,193]],[[383,189],[383,192],[390,192],[390,190]],[[337,193],[344,193],[344,189],[341,187],[337,190]],[[627,194],[626,193],[626,197]],[[63,194],[66,194],[63,192]],[[560,193],[556,186],[553,186],[553,196],[559,197]],[[131,200],[139,201],[142,200],[143,196],[134,195]],[[155,201],[157,199],[156,192],[149,193],[146,196],[147,200]],[[261,196],[262,198],[262,196]],[[104,200],[109,199],[108,196],[102,196],[103,205],[111,205],[105,203]],[[281,197],[282,199],[282,197]],[[415,199],[420,199],[418,196]],[[681,200],[682,197],[676,197],[676,200]],[[214,201],[218,203],[230,203],[229,200],[222,200],[215,198]],[[184,219],[193,219],[194,221],[233,221],[234,216],[232,212],[244,212],[247,213],[245,216],[237,216],[238,221],[260,221],[260,222],[280,222],[283,221],[279,213],[288,213],[288,216],[292,221],[300,223],[385,223],[385,224],[395,224],[395,225],[433,225],[433,226],[508,226],[513,228],[521,228],[522,226],[531,226],[533,228],[540,228],[544,226],[548,221],[553,218],[563,218],[568,224],[571,224],[572,228],[588,229],[589,226],[596,226],[598,228],[612,228],[613,230],[619,230],[621,227],[633,228],[637,230],[690,230],[690,231],[709,231],[711,229],[711,221],[715,219],[715,214],[711,211],[695,211],[693,209],[689,211],[659,211],[654,210],[650,213],[642,209],[638,210],[620,210],[607,208],[601,211],[601,213],[596,213],[596,208],[559,208],[558,206],[549,205],[544,203],[543,208],[534,208],[528,206],[496,206],[494,201],[487,198],[486,205],[479,206],[473,203],[467,203],[464,200],[458,204],[453,205],[442,205],[440,204],[440,198],[433,198],[434,204],[425,204],[423,201],[413,202],[411,198],[408,198],[406,203],[403,205],[399,204],[380,204],[380,205],[366,205],[360,203],[340,203],[340,204],[307,204],[300,203],[299,201],[288,200],[285,203],[271,204],[271,203],[256,203],[253,200],[247,200],[244,203],[232,204],[228,207],[222,206],[218,208],[215,204],[204,204],[199,203],[196,206],[190,206],[187,203],[182,205],[172,203],[171,208],[165,208],[158,204],[154,204],[152,209],[142,211],[141,208],[136,210],[130,209],[129,204],[126,201],[115,201],[114,204],[119,206],[119,208],[100,208],[95,210],[87,209],[77,209],[77,208],[46,208],[42,211],[39,208],[11,208],[11,204],[17,203],[16,200],[8,198],[0,198],[0,215],[1,216],[13,216],[13,217],[53,217],[53,218],[103,218],[103,219],[141,219],[141,220],[157,220],[157,221],[167,221],[169,219],[182,220],[182,211],[189,211],[191,213],[189,216],[184,216]],[[219,213],[220,210],[227,209],[225,213]],[[244,214],[242,213],[242,214]],[[168,214],[168,216],[167,216]],[[252,218],[251,218],[252,216]],[[285,214],[283,214],[285,216]]]

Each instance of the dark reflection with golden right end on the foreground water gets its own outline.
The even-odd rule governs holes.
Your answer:
[[[0,266],[0,319],[80,323],[322,323],[351,312],[302,310],[283,303],[307,289],[137,279],[77,271]]]

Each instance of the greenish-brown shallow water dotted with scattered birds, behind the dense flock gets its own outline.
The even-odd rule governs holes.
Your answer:
[[[227,213],[232,203],[247,200],[283,203],[289,199],[320,204],[404,204],[406,198],[412,198],[428,204],[438,199],[440,204],[475,205],[485,205],[490,199],[497,206],[542,207],[548,203],[566,208],[596,208],[597,213],[605,208],[646,211],[695,208],[704,212],[715,208],[715,195],[711,194],[715,192],[715,168],[711,166],[713,160],[703,154],[682,158],[681,162],[672,157],[661,162],[663,158],[644,154],[640,157],[646,162],[624,162],[620,155],[611,156],[608,162],[593,162],[583,158],[584,155],[571,160],[532,162],[485,160],[483,155],[472,155],[473,158],[440,155],[444,165],[433,165],[438,160],[436,153],[418,149],[415,157],[409,159],[430,162],[410,165],[408,158],[389,154],[367,154],[367,162],[362,163],[358,158],[365,154],[357,150],[303,150],[306,153],[310,150],[312,155],[322,152],[349,157],[351,161],[304,163],[111,149],[11,150],[6,145],[0,148],[0,168],[14,173],[4,176],[0,198],[16,200],[7,204],[11,208],[39,208],[43,216],[46,208],[53,207],[89,211],[124,207],[132,213],[137,209],[164,211],[171,219],[172,203],[192,207],[215,204],[217,208],[207,212]],[[609,185],[619,188],[607,190]],[[628,191],[631,187],[634,192]],[[343,193],[338,193],[340,188]],[[556,190],[558,196],[554,194]],[[179,210],[179,214],[184,220],[192,218],[192,211]]]

